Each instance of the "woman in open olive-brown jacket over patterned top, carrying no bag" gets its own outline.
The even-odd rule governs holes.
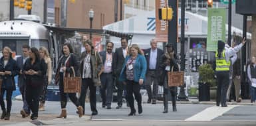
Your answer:
[[[84,101],[87,88],[90,89],[90,110],[92,115],[97,115],[96,109],[96,86],[100,86],[100,72],[102,69],[102,60],[100,54],[94,50],[90,40],[82,42],[85,51],[80,58],[80,74],[82,76],[81,95],[79,97],[80,105],[84,109]],[[84,114],[84,110],[83,110]]]

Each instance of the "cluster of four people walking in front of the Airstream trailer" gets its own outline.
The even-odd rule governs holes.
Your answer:
[[[9,120],[11,116],[11,97],[16,90],[15,76],[19,75],[18,86],[23,97],[23,109],[21,115],[31,119],[37,119],[39,102],[41,107],[45,102],[47,84],[51,82],[51,58],[47,48],[30,48],[23,45],[23,56],[13,59],[11,48],[3,48],[3,56],[0,59],[0,104],[2,109],[1,119]],[[49,77],[49,78],[48,78]],[[46,88],[45,88],[46,87]],[[7,109],[3,96],[6,92]],[[41,98],[39,98],[41,97]]]

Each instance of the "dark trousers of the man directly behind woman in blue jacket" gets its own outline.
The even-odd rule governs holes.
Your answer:
[[[123,82],[120,82],[118,80],[119,76],[116,78],[116,88],[117,89],[117,105],[122,106],[122,97],[124,94],[124,97],[126,101],[128,101],[128,97],[126,95],[126,86],[123,84]]]

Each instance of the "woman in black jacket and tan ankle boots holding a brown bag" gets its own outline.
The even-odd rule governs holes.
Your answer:
[[[78,98],[76,97],[76,93],[64,93],[64,77],[68,74],[74,74],[74,76],[79,76],[78,72],[78,60],[76,56],[73,54],[73,49],[70,43],[64,43],[63,44],[63,54],[59,58],[58,66],[57,66],[57,72],[55,75],[55,84],[59,84],[59,90],[61,93],[61,115],[58,116],[58,118],[66,118],[66,101],[67,97],[69,96],[70,100],[76,105],[76,108],[78,109],[79,117],[82,117],[82,107],[80,106],[80,103],[78,101]],[[74,68],[74,72],[72,72],[72,68]]]

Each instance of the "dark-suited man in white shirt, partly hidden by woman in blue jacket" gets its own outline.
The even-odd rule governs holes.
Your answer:
[[[121,46],[120,48],[116,48],[116,51],[114,53],[114,76],[116,77],[116,87],[117,90],[117,107],[116,109],[120,109],[122,107],[122,95],[124,91],[124,84],[118,80],[122,66],[124,64],[124,59],[128,55],[128,39],[127,38],[121,38]],[[127,99],[127,98],[126,98]],[[127,101],[127,100],[126,100]]]

